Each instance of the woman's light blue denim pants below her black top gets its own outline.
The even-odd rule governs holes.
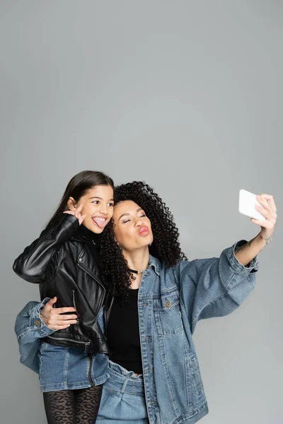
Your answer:
[[[109,361],[103,384],[97,424],[149,424],[144,397],[144,379]]]

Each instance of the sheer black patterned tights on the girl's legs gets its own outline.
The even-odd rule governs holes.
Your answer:
[[[48,424],[94,424],[102,385],[88,389],[46,391],[43,393]]]

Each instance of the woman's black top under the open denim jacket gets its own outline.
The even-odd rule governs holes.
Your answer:
[[[128,371],[142,374],[141,343],[139,340],[139,314],[137,297],[139,289],[132,289],[124,306],[115,298],[107,329],[110,360]]]

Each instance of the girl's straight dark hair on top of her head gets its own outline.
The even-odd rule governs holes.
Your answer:
[[[55,220],[62,218],[64,211],[69,211],[68,200],[73,197],[75,201],[78,201],[81,196],[84,196],[88,190],[98,185],[109,185],[114,190],[114,182],[112,178],[100,171],[81,171],[79,174],[74,175],[70,179],[62,199],[54,212],[52,218],[48,221],[46,227]]]

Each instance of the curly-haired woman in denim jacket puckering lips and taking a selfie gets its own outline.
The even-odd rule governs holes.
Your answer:
[[[277,219],[273,197],[262,197],[266,220],[252,219],[261,226],[253,240],[188,261],[153,189],[144,182],[115,188],[112,223],[100,239],[110,360],[98,424],[193,424],[208,413],[192,334],[200,319],[233,312],[253,290],[257,254]]]

